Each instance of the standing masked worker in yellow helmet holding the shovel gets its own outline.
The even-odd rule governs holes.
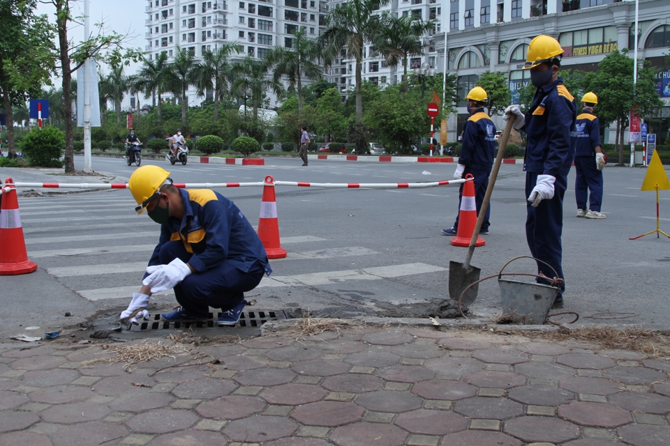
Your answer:
[[[567,174],[574,160],[576,103],[558,77],[563,48],[553,37],[537,36],[530,41],[526,64],[530,82],[537,89],[524,116],[518,105],[505,110],[505,120],[528,135],[523,170],[526,171],[526,239],[537,270],[546,277],[563,277],[561,233],[563,197]],[[538,279],[540,283],[549,283]],[[563,307],[565,282],[553,302]]]

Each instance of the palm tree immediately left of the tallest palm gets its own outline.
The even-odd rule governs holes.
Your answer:
[[[282,76],[288,77],[288,83],[297,91],[298,118],[302,116],[302,77],[319,80],[323,77],[321,66],[317,63],[318,48],[316,41],[307,37],[304,27],[300,31],[292,31],[295,38],[292,47],[279,45],[270,49],[267,63],[274,65],[274,81],[279,82]]]

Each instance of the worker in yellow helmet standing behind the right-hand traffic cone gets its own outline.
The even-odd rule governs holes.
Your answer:
[[[489,175],[493,167],[493,154],[496,152],[496,125],[493,124],[489,115],[484,113],[484,107],[489,102],[489,96],[480,86],[470,90],[466,96],[468,100],[468,121],[463,127],[463,143],[461,145],[461,156],[459,165],[454,172],[454,180],[460,180],[467,174],[472,174],[475,178],[475,205],[477,214],[482,208],[486,187],[489,186]],[[459,190],[459,209],[463,199],[463,185]],[[486,208],[486,216],[482,223],[480,234],[489,233],[489,217],[491,215],[491,206]],[[456,210],[456,221],[454,226],[449,229],[442,229],[445,236],[455,236],[459,229],[459,212]]]

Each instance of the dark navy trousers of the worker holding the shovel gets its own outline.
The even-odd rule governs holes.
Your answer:
[[[526,172],[526,199],[530,197],[530,192],[537,184],[537,176],[542,175],[537,172]],[[540,261],[549,263],[546,266],[542,262],[537,262],[537,271],[542,272],[546,277],[560,277],[563,279],[563,248],[560,245],[560,236],[563,232],[563,197],[567,189],[567,176],[557,175],[556,182],[553,183],[553,198],[542,200],[537,208],[526,201],[526,240],[530,248],[530,255]],[[553,268],[553,270],[550,268]],[[556,272],[554,272],[556,270]],[[549,284],[545,280],[537,279],[537,282]],[[565,283],[561,284],[558,295],[565,291]]]

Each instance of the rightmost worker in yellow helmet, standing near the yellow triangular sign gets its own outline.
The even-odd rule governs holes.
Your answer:
[[[581,98],[582,113],[577,116],[577,144],[574,151],[574,198],[577,201],[577,217],[589,219],[605,218],[600,213],[605,156],[600,147],[600,122],[593,114],[597,104],[598,97],[595,93],[588,92]]]

